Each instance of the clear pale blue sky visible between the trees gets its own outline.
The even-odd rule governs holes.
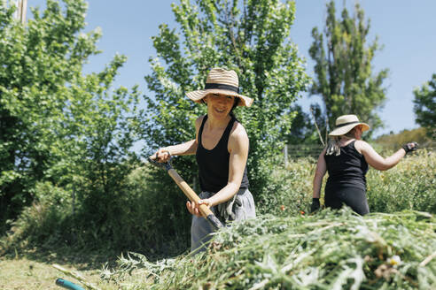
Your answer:
[[[27,1],[28,6],[41,8],[45,3],[45,0]],[[173,2],[178,3],[173,0],[90,0],[85,31],[101,27],[103,37],[97,45],[103,53],[91,57],[85,71],[101,71],[115,53],[124,54],[128,61],[121,68],[115,85],[130,88],[138,84],[145,95],[152,95],[144,81],[144,75],[151,73],[148,58],[156,56],[151,37],[158,34],[160,24],[178,27],[171,10]],[[296,1],[296,19],[290,37],[298,45],[300,56],[306,58],[310,76],[314,76],[314,63],[308,55],[311,31],[313,27],[323,29],[326,2]],[[346,1],[349,11],[354,2]],[[343,3],[343,0],[336,1],[337,10],[342,10]],[[379,129],[376,135],[415,128],[413,89],[436,73],[436,1],[361,0],[360,3],[366,19],[370,19],[369,41],[378,35],[378,42],[384,45],[384,49],[376,53],[373,72],[383,68],[390,70],[385,80],[387,101],[379,111],[385,128]],[[316,96],[303,95],[298,103],[307,111],[310,103],[319,100]]]

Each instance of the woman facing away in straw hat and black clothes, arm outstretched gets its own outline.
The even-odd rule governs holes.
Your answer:
[[[403,156],[417,149],[416,142],[405,144],[392,156],[378,155],[370,144],[362,141],[362,132],[370,129],[355,115],[344,115],[336,119],[336,128],[329,134],[331,141],[323,149],[316,164],[311,210],[320,208],[323,176],[329,172],[325,187],[324,203],[331,209],[340,209],[343,204],[360,215],[370,212],[366,197],[368,164],[384,171],[398,164]]]

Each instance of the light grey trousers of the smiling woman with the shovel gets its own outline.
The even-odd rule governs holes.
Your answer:
[[[203,191],[199,194],[200,199],[206,199],[214,195]],[[237,195],[235,195],[230,201],[218,204],[211,207],[210,210],[214,212],[214,215],[223,222],[224,225],[228,225],[232,221],[241,221],[246,218],[256,217],[256,210],[254,208],[254,200],[252,193],[246,189],[239,189]],[[209,233],[214,233],[214,229],[207,222],[204,217],[192,216],[191,224],[191,252],[206,250],[206,243],[212,238]]]

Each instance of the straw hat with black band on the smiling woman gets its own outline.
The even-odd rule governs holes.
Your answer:
[[[233,95],[240,99],[239,106],[250,107],[253,99],[239,95],[239,80],[235,71],[226,71],[222,68],[213,68],[206,78],[205,89],[186,93],[192,101],[202,103],[201,100],[208,94]]]

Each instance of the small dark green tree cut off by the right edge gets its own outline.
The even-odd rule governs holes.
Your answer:
[[[417,123],[432,129],[433,136],[436,136],[436,73],[433,73],[432,80],[424,83],[421,88],[416,88],[413,94],[413,111],[417,115]]]

